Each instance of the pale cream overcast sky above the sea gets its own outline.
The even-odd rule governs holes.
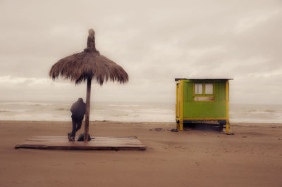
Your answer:
[[[97,49],[128,84],[92,84],[92,101],[175,102],[176,77],[233,78],[232,103],[282,104],[282,1],[0,1],[0,100],[85,98],[48,73]]]

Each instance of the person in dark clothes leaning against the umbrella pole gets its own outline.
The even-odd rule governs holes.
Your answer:
[[[82,98],[78,98],[78,101],[71,106],[71,119],[73,120],[73,131],[68,133],[68,140],[75,141],[75,133],[81,128],[82,120],[85,115],[86,104]]]

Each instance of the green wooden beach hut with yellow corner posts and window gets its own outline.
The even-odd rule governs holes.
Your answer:
[[[229,134],[229,80],[176,78],[176,127],[217,122]]]

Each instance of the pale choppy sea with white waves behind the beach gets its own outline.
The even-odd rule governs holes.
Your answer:
[[[71,101],[0,101],[0,120],[71,121]],[[175,103],[92,102],[90,120],[175,122]],[[282,123],[282,105],[232,104],[230,121]]]

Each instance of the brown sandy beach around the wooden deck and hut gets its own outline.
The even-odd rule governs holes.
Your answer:
[[[282,124],[231,124],[227,136],[204,125],[90,123],[92,136],[138,136],[145,151],[16,150],[31,136],[66,135],[71,122],[0,128],[1,186],[282,186]]]

